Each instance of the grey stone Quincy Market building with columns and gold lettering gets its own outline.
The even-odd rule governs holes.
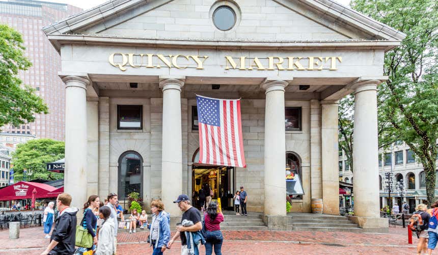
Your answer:
[[[44,32],[62,58],[74,206],[138,191],[177,216],[172,201],[207,183],[224,208],[244,186],[268,226],[287,224],[286,194],[293,212],[322,199],[339,214],[338,100],[355,93],[353,220],[385,231],[376,87],[404,34],[332,0],[115,0]],[[247,168],[197,163],[197,94],[241,98]]]

